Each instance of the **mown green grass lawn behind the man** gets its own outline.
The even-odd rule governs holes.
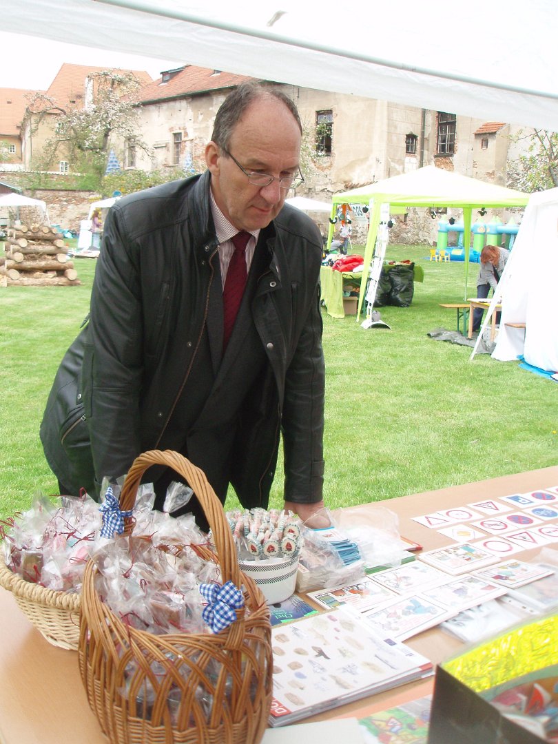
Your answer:
[[[392,330],[364,330],[354,317],[324,312],[330,507],[557,462],[556,383],[488,355],[469,362],[469,347],[427,336],[455,330],[455,312],[439,304],[464,298],[464,263],[428,255],[426,246],[388,248],[388,259],[415,260],[425,272],[410,307],[380,310]],[[36,491],[56,491],[38,432],[54,373],[89,306],[95,264],[75,264],[81,286],[0,289],[0,516],[28,507]],[[477,269],[469,270],[469,295]]]

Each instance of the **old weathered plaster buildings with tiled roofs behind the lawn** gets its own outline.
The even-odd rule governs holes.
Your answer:
[[[99,71],[62,65],[46,94],[59,102],[60,108],[86,106],[90,77]],[[149,153],[138,150],[132,141],[114,138],[111,147],[122,167],[148,171],[178,167],[186,174],[202,170],[217,109],[228,92],[248,78],[195,65],[164,71],[155,81],[147,73],[135,74],[144,82],[133,100]],[[518,127],[503,122],[270,81],[266,84],[280,87],[301,112],[306,177],[298,191],[301,195],[327,200],[333,193],[432,164],[505,185],[507,159],[521,152]],[[0,134],[0,142],[10,148],[12,169],[19,157],[19,167],[30,170],[56,127],[57,109],[53,107],[39,118],[23,105],[23,93],[16,96],[7,89],[0,91],[3,99],[10,96],[17,102],[12,104],[10,117],[5,113],[7,107],[2,106],[0,128],[6,131]],[[3,170],[0,165],[0,175]],[[72,164],[60,155],[53,170],[68,173]]]

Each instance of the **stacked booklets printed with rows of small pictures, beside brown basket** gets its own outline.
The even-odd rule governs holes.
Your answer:
[[[274,727],[433,673],[429,659],[347,609],[276,626],[272,643]]]

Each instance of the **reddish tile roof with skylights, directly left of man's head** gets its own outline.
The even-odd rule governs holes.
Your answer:
[[[155,100],[176,98],[193,93],[233,88],[246,82],[246,80],[254,80],[253,77],[247,75],[221,72],[211,68],[196,67],[195,65],[186,65],[178,69],[179,71],[173,74],[167,83],[163,83],[163,76],[161,76],[154,83],[133,94],[133,100],[150,103]]]

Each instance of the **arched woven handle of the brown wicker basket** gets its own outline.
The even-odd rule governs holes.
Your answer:
[[[121,510],[127,511],[133,509],[141,476],[152,465],[167,465],[172,467],[175,472],[186,479],[193,493],[196,494],[211,527],[217,548],[217,561],[221,568],[222,583],[231,580],[234,586],[240,588],[243,580],[240,577],[237,551],[234,546],[231,527],[225,519],[225,510],[223,510],[219,498],[217,498],[208,479],[205,477],[205,473],[199,467],[191,464],[179,452],[173,452],[171,449],[165,449],[164,451],[152,449],[150,452],[144,452],[143,455],[135,458],[121,490]],[[134,522],[131,517],[124,519],[125,535],[132,533],[133,524]]]

